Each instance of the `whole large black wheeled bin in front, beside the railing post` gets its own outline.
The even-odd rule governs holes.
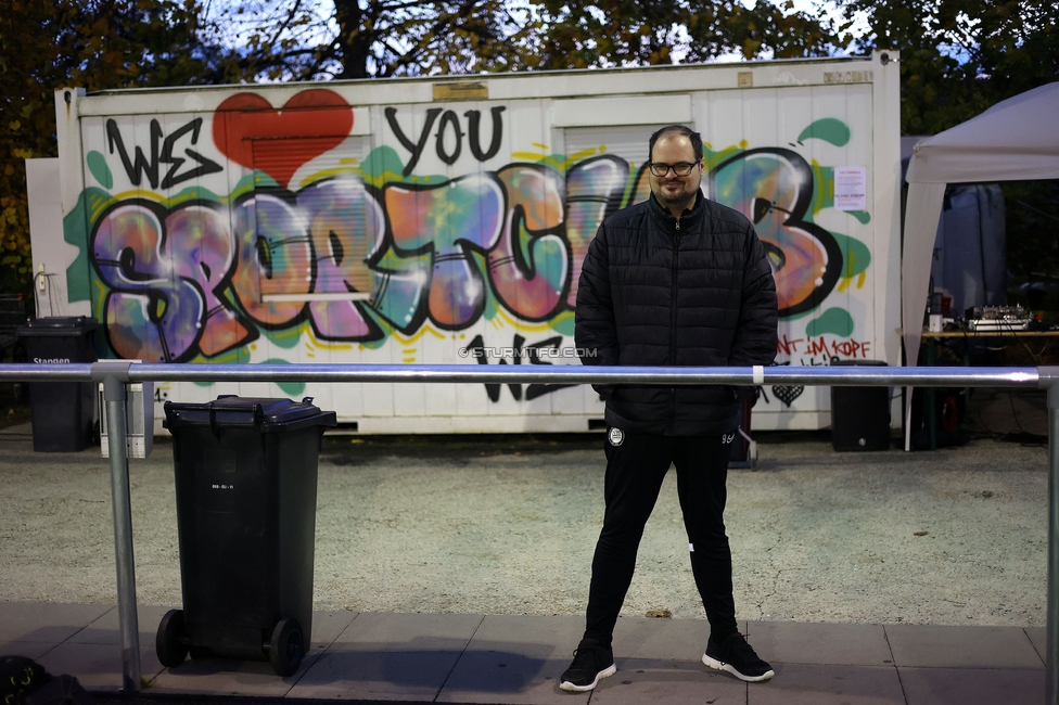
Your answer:
[[[183,610],[158,626],[158,661],[269,661],[297,670],[311,640],[320,440],[311,397],[165,405],[173,434]]]

